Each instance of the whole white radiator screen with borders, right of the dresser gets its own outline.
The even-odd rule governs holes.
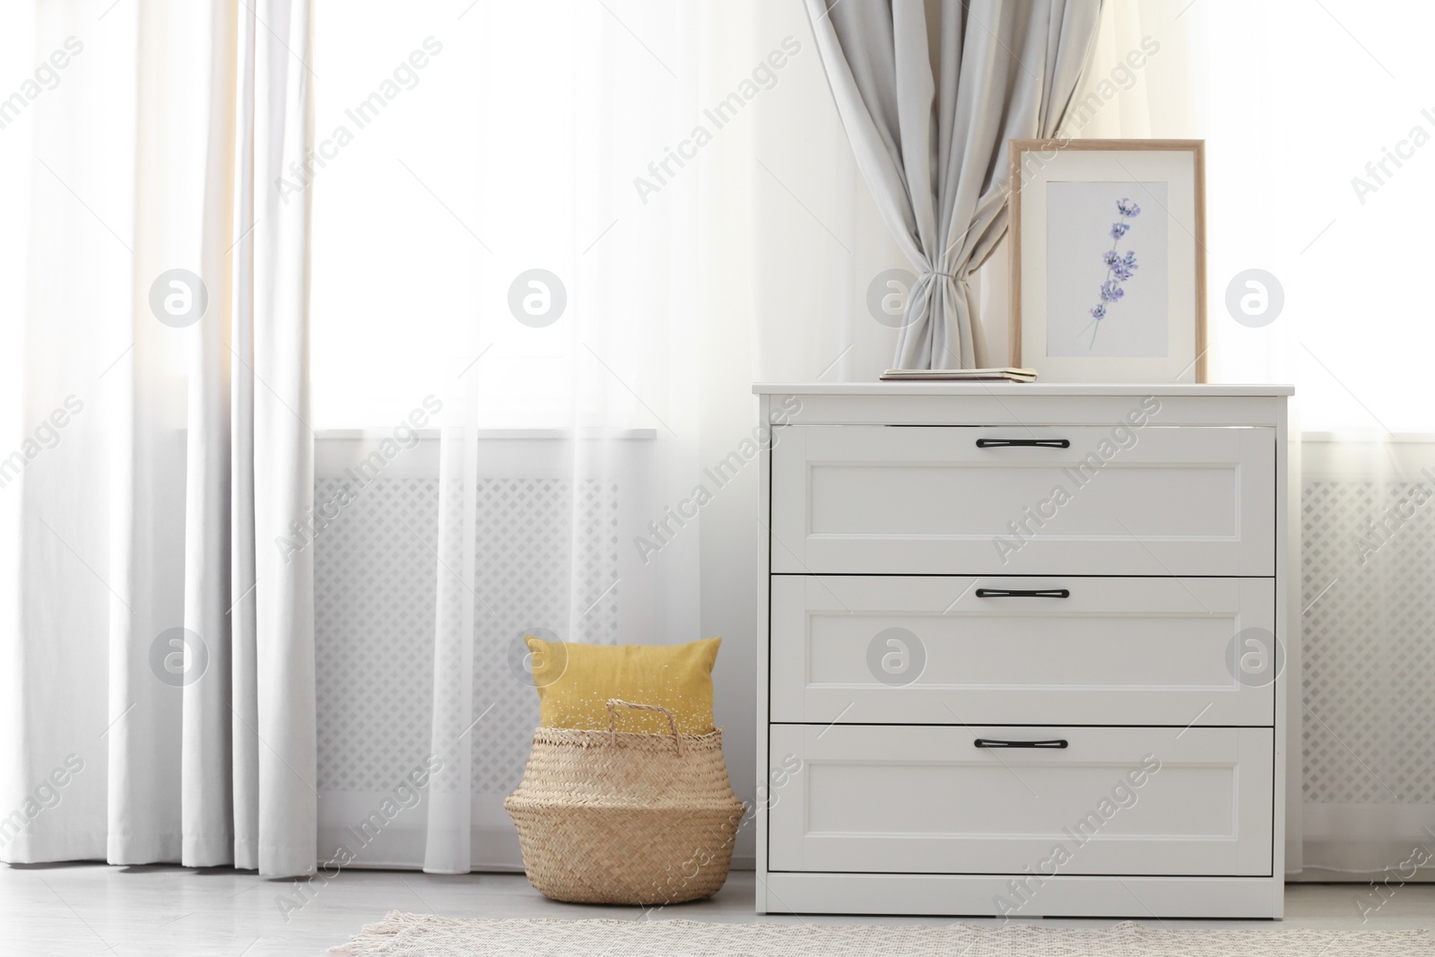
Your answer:
[[[1435,445],[1302,458],[1304,865],[1408,871],[1435,851]]]

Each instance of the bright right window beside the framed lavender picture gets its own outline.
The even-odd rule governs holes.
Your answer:
[[[1435,432],[1435,7],[1203,3],[1215,376],[1294,379],[1306,430]],[[1204,75],[1204,76],[1203,76]],[[1225,284],[1277,277],[1279,319]],[[1215,377],[1213,376],[1213,377]]]

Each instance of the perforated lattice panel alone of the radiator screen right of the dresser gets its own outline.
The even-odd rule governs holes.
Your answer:
[[[1310,803],[1435,803],[1435,501],[1396,514],[1416,492],[1411,482],[1304,488]],[[1395,521],[1376,535],[1368,522],[1386,515]]]

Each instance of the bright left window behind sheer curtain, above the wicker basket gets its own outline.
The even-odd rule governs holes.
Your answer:
[[[651,426],[692,189],[631,181],[690,125],[689,13],[465,7],[319,0],[316,426],[471,386],[485,426]]]

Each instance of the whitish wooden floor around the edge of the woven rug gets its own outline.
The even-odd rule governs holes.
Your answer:
[[[578,907],[545,900],[522,875],[442,877],[399,871],[344,871],[301,910],[281,911],[288,882],[227,868],[108,867],[103,864],[0,865],[0,954],[184,954],[261,957],[321,954],[389,910],[448,917],[621,917],[631,920],[752,921],[752,872],[733,871],[710,901],[657,911]],[[1297,884],[1286,892],[1286,921],[1141,921],[1164,927],[1320,927],[1403,930],[1435,927],[1435,885],[1399,888],[1362,924],[1366,884]],[[921,918],[769,917],[785,923],[927,923]],[[931,918],[930,923],[950,923]],[[971,920],[971,923],[990,923]],[[1043,921],[1109,925],[1115,921]]]

